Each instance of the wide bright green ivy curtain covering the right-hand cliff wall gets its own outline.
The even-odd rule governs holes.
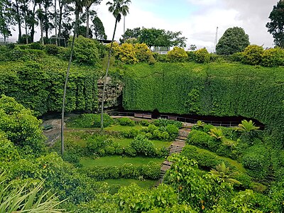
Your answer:
[[[123,105],[126,110],[244,116],[281,133],[283,71],[283,67],[217,63],[131,65],[125,70]]]

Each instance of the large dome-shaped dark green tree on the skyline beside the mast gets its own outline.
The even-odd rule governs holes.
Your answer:
[[[242,52],[249,45],[249,35],[243,28],[234,27],[226,29],[216,46],[218,55],[231,55]]]

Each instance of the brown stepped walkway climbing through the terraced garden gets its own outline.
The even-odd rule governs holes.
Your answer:
[[[192,126],[187,125],[185,128],[182,128],[178,131],[178,137],[175,138],[175,141],[173,141],[173,143],[170,145],[169,155],[182,152],[182,148],[185,147],[185,141],[187,139],[187,136],[191,131],[190,127]],[[160,183],[163,182],[165,172],[170,169],[170,165],[172,164],[173,163],[168,160],[165,160],[163,162],[162,167],[160,168],[160,179],[158,180],[158,182],[156,182],[155,187],[157,187],[158,185],[160,185]]]

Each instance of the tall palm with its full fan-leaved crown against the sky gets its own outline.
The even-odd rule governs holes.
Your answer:
[[[110,2],[110,1],[107,2],[107,5],[109,5],[109,12],[111,12],[114,18],[116,18],[115,25],[114,25],[114,35],[116,33],[116,25],[119,21],[121,21],[121,15],[126,16],[127,13],[129,13],[130,3],[131,3],[130,0],[114,0],[114,2]],[[111,48],[109,48],[109,58],[107,60],[107,71],[106,71],[106,75],[104,76],[104,88],[102,89],[101,131],[104,131],[104,119],[103,119],[104,93],[105,93],[106,85],[107,85],[107,74],[109,72],[109,62],[111,59],[112,45],[114,43],[114,35],[112,35],[112,39],[111,39]]]

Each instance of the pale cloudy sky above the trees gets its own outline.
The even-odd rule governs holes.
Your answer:
[[[104,23],[107,38],[114,31],[114,16],[108,11],[107,1],[92,9]],[[266,23],[278,0],[131,0],[126,28],[163,28],[166,31],[182,31],[187,38],[187,48],[197,45],[214,50],[214,40],[221,38],[227,28],[238,26],[249,34],[251,44],[273,47],[273,38]],[[39,30],[38,30],[39,32]],[[124,33],[123,19],[116,29],[115,40]],[[39,33],[38,33],[39,34]],[[16,32],[13,39],[16,39]],[[39,38],[39,35],[36,35]]]

